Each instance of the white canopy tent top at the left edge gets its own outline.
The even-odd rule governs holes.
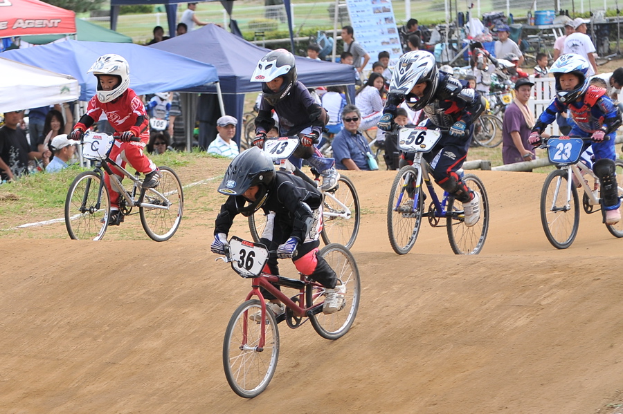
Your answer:
[[[78,80],[0,57],[0,112],[75,101]]]

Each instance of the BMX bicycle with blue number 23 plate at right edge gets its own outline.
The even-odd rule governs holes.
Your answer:
[[[593,170],[580,160],[584,142],[590,138],[578,136],[551,136],[543,138],[541,148],[547,149],[548,158],[558,169],[549,173],[541,190],[541,224],[548,241],[557,249],[566,249],[575,240],[579,228],[579,197],[577,185],[581,186],[582,207],[586,214],[602,211],[605,223],[605,211],[599,198],[599,178]],[[623,161],[616,160],[617,187],[619,198],[623,194]],[[589,182],[593,184],[589,185]],[[596,208],[600,206],[599,208]],[[606,225],[608,232],[615,237],[623,237],[623,221]]]

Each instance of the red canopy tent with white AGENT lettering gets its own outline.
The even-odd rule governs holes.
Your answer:
[[[5,0],[0,10],[0,38],[75,33],[75,13],[43,1]]]

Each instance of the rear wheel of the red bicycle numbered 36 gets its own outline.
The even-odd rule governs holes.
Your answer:
[[[329,266],[336,272],[338,279],[346,285],[345,308],[332,314],[311,314],[309,321],[318,335],[325,339],[338,339],[350,330],[352,323],[359,310],[361,299],[361,280],[359,269],[350,250],[343,245],[332,243],[323,247],[318,253]],[[307,308],[324,301],[325,289],[322,287],[307,285],[305,289],[305,303]]]

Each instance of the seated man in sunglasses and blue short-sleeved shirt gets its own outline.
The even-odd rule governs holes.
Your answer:
[[[342,111],[344,129],[338,132],[331,144],[335,167],[337,169],[350,169],[353,171],[370,171],[368,155],[370,147],[368,140],[359,132],[361,113],[354,105],[346,105]]]

